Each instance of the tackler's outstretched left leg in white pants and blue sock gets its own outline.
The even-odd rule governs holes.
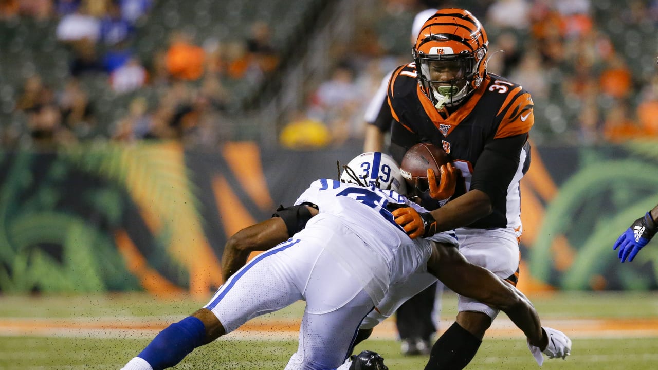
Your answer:
[[[289,261],[281,257],[296,252],[297,261],[313,261],[313,248],[305,247],[299,240],[288,241],[250,261],[220,286],[209,304],[161,331],[124,369],[172,367],[195,348],[237,329],[247,320],[300,300],[299,284],[293,282],[295,276],[286,273],[297,267],[289,266]],[[308,264],[297,265],[297,273],[303,274]],[[306,270],[309,273],[308,267]]]

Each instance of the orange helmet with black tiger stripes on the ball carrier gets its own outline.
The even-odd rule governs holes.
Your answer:
[[[489,40],[463,9],[441,9],[420,29],[413,57],[420,90],[436,109],[458,105],[482,84]]]

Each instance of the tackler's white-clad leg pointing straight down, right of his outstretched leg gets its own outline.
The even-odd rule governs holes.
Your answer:
[[[329,253],[318,257],[303,294],[307,305],[299,348],[286,370],[336,369],[349,356],[359,324],[372,311],[372,298]]]

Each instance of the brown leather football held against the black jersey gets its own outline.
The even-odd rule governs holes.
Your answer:
[[[432,169],[439,180],[441,177],[439,167],[449,162],[450,159],[442,147],[420,143],[407,150],[400,164],[400,172],[410,186],[413,186],[418,179],[422,188],[425,188],[427,186],[427,169]]]

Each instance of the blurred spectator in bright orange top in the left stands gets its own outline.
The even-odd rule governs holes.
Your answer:
[[[174,32],[166,51],[166,67],[174,78],[198,80],[204,72],[205,51],[192,43],[190,35]]]

